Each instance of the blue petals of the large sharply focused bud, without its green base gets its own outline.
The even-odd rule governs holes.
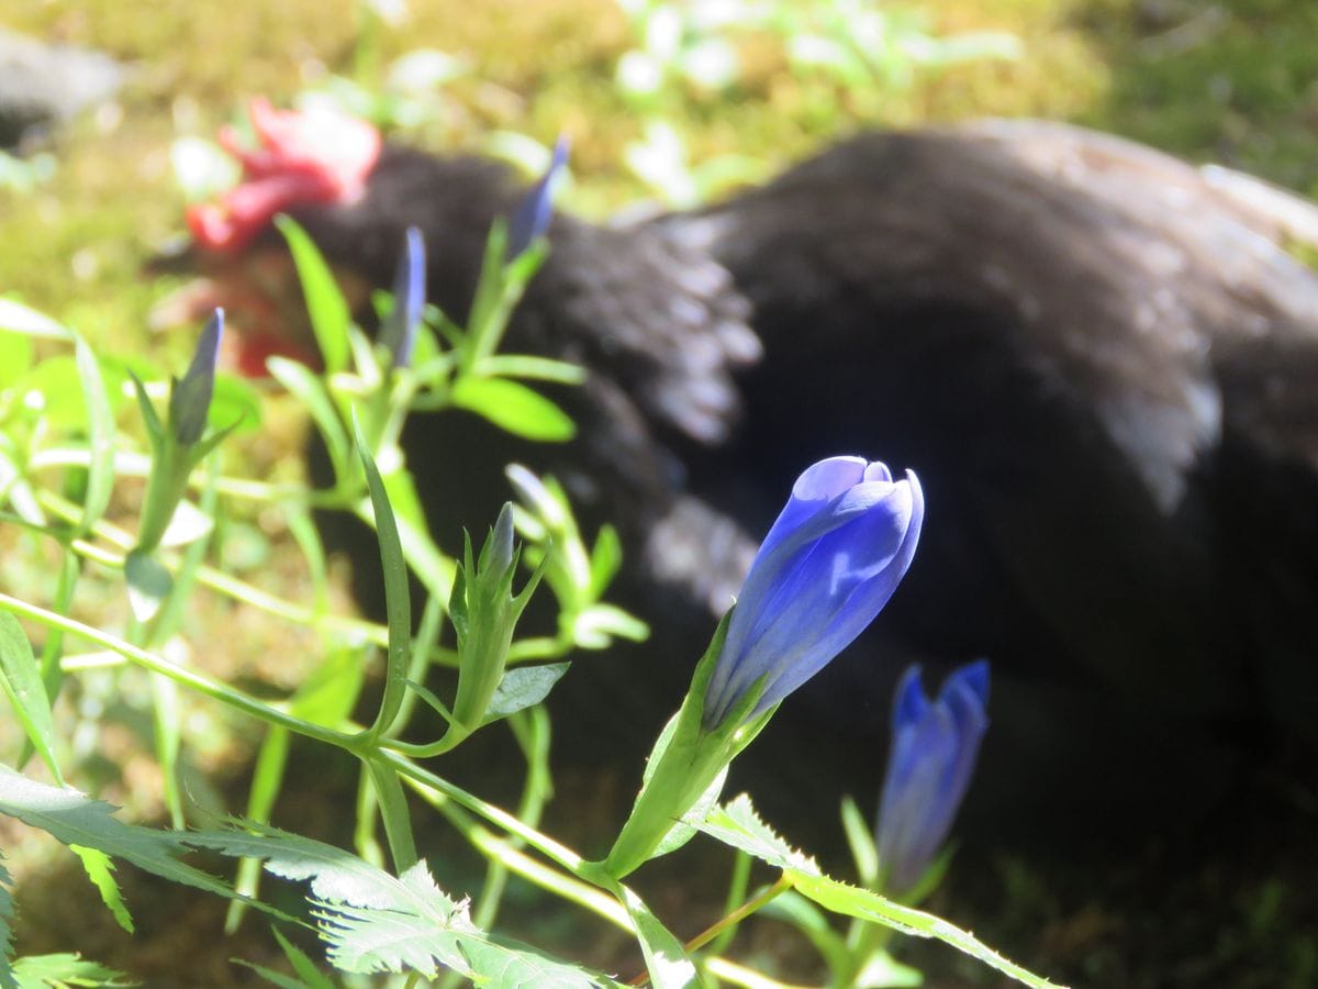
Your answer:
[[[834,456],[809,467],[759,547],[705,694],[714,728],[757,683],[753,719],[818,673],[879,613],[924,518],[916,476]]]

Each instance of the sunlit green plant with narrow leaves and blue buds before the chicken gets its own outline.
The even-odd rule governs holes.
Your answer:
[[[550,186],[547,177],[532,196],[547,202]],[[580,371],[500,352],[507,319],[544,258],[548,214],[542,206],[532,202],[511,223],[496,223],[465,327],[424,305],[424,245],[409,232],[393,297],[378,301],[377,340],[352,322],[315,244],[295,223],[279,219],[324,369],[279,357],[269,360],[269,369],[307,410],[326,446],[332,480],[320,488],[231,472],[236,460],[225,456],[227,448],[243,423],[261,413],[260,401],[246,406],[241,392],[216,373],[221,314],[202,332],[187,373],[162,388],[158,375],[117,371],[74,331],[0,302],[0,522],[59,560],[53,582],[0,592],[0,683],[25,738],[16,767],[0,767],[0,814],[69,845],[127,931],[133,914],[112,872],[117,862],[228,898],[231,930],[252,910],[285,928],[314,928],[323,961],[274,927],[295,977],[252,968],[277,985],[336,985],[323,963],[344,976],[395,973],[409,986],[445,973],[500,986],[619,985],[544,945],[497,934],[513,877],[564,907],[580,907],[583,918],[627,931],[646,960],[641,981],[660,989],[712,980],[775,985],[731,957],[737,924],[775,899],[796,905],[799,915],[809,905],[863,930],[878,924],[937,938],[1027,985],[1049,985],[945,920],[826,876],[778,837],[747,796],[718,803],[728,762],[791,690],[869,622],[909,563],[923,498],[913,477],[895,483],[882,464],[840,458],[797,481],[742,604],[716,630],[681,712],[656,742],[635,808],[619,823],[609,854],[589,861],[539,829],[552,794],[548,717],[540,702],[571,675],[575,650],[646,633],[606,600],[622,563],[617,535],[606,527],[588,545],[563,489],[513,467],[519,504],[505,505],[489,534],[468,539],[463,558],[452,559],[430,535],[399,436],[410,415],[451,407],[474,410],[540,442],[572,436],[572,422],[526,382],[571,384]],[[38,361],[38,349],[47,348],[55,356]],[[136,404],[128,401],[133,397]],[[140,481],[140,505],[111,512],[115,496]],[[277,599],[214,566],[219,520],[241,514],[244,505],[285,520],[304,554],[315,603]],[[326,567],[312,509],[351,513],[374,527],[385,624],[324,607]],[[129,531],[119,517],[132,522],[134,514],[136,531]],[[857,553],[854,541],[874,526],[891,530],[894,545],[866,542],[869,549]],[[525,538],[521,547],[515,531]],[[821,567],[837,570],[829,560],[851,560],[854,570],[822,582]],[[415,622],[410,580],[427,592]],[[75,617],[83,613],[82,593],[107,584],[132,603],[123,628]],[[540,585],[556,600],[559,621],[548,637],[525,637],[518,620],[527,599],[544,593]],[[804,593],[799,608],[779,607],[786,585]],[[187,609],[200,596],[241,603],[315,633],[322,647],[301,684],[272,699],[179,662],[190,651]],[[449,626],[456,649],[440,645]],[[376,700],[355,720],[377,651]],[[448,675],[435,676],[440,670]],[[78,695],[83,678],[98,675],[117,678],[128,691],[136,673],[148,675],[167,828],[127,823],[70,785],[82,775],[79,746],[67,734],[59,699]],[[186,799],[181,779],[191,738],[183,712],[198,702],[262,732],[241,816],[203,812]],[[419,705],[440,715],[438,732],[414,720]],[[526,766],[522,798],[511,811],[444,775],[447,753],[501,727]],[[272,825],[293,736],[357,764],[353,851]],[[41,769],[20,771],[33,757]],[[418,814],[440,815],[486,858],[474,902],[436,884],[416,837]],[[696,833],[729,845],[742,861],[768,864],[779,878],[746,895],[749,873],[741,868],[728,915],[704,932],[679,936],[623,880]],[[198,852],[236,860],[236,880],[199,869],[191,861]],[[262,873],[303,884],[306,911],[291,916],[262,901]],[[55,984],[123,982],[119,973],[75,956],[13,957],[8,873],[0,873],[0,986],[32,984],[33,972],[53,973],[41,977]]]

